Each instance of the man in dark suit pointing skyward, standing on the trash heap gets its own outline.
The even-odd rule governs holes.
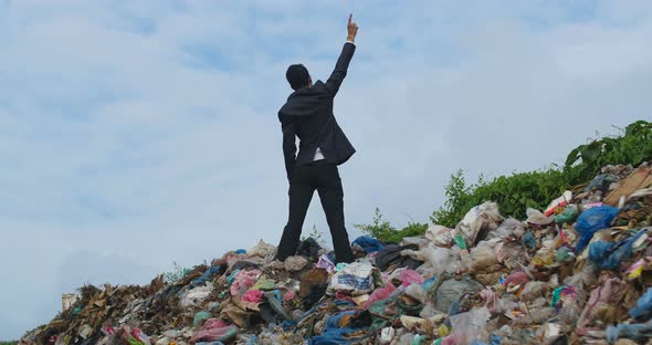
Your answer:
[[[337,166],[356,151],[333,115],[333,98],[346,76],[356,51],[358,25],[348,18],[347,42],[326,83],[313,80],[302,64],[294,64],[285,74],[294,93],[278,111],[283,129],[283,154],[290,181],[290,217],[283,230],[276,259],[294,255],[306,211],[315,189],[319,194],[326,221],[330,228],[335,259],[351,262],[354,254],[344,226],[344,191]],[[295,136],[299,138],[298,156]]]

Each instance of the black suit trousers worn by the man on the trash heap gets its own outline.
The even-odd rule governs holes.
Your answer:
[[[315,189],[319,194],[326,221],[333,237],[335,260],[353,262],[348,233],[344,226],[344,190],[337,165],[317,160],[295,167],[290,182],[290,216],[283,230],[276,259],[284,261],[294,255],[301,240],[306,212]]]

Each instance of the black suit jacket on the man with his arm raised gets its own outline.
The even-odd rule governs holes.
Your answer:
[[[288,179],[292,179],[297,165],[313,161],[317,147],[327,161],[336,165],[347,161],[355,154],[356,149],[333,114],[333,100],[346,76],[355,51],[355,44],[345,43],[328,81],[317,81],[312,87],[305,86],[295,91],[278,111]],[[299,138],[298,156],[295,137]]]

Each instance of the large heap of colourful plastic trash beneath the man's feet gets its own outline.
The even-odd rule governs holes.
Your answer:
[[[527,219],[498,205],[401,243],[260,241],[175,283],[84,286],[21,344],[652,344],[652,176],[608,166]]]

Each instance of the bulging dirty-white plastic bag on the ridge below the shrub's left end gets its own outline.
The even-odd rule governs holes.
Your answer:
[[[485,202],[472,208],[455,227],[455,234],[462,234],[467,245],[483,240],[488,231],[495,230],[503,221],[495,202]]]

